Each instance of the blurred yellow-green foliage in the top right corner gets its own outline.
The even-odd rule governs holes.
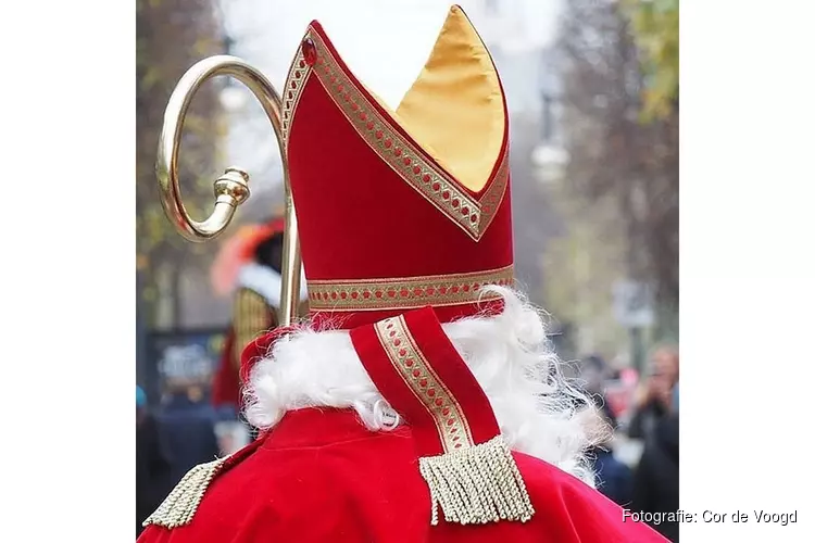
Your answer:
[[[679,0],[624,0],[645,73],[645,121],[669,117],[679,101]]]

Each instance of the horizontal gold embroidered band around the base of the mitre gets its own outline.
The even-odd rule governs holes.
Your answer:
[[[485,285],[512,286],[513,266],[476,272],[422,277],[369,279],[362,281],[309,281],[311,311],[409,310],[424,305],[444,306],[499,300],[500,295],[479,292]]]

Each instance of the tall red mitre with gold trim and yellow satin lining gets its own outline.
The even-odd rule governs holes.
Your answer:
[[[507,112],[457,7],[396,111],[316,21],[283,98],[312,321],[349,329],[426,305],[442,321],[500,308],[478,291],[513,280]]]

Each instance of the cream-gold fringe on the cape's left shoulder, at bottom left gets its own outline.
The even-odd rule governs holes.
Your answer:
[[[227,458],[228,456],[218,458],[190,469],[170,495],[164,498],[155,513],[142,522],[142,526],[155,525],[172,530],[190,523],[198,506],[201,504],[206,488],[221,471]]]

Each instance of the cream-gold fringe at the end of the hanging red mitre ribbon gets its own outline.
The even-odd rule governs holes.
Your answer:
[[[468,449],[419,458],[422,477],[430,488],[430,523],[444,520],[460,525],[521,520],[535,508],[526,484],[501,435]]]

